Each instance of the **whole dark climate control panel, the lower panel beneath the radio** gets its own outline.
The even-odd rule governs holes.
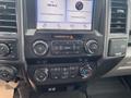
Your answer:
[[[29,66],[29,76],[36,84],[86,81],[95,71],[95,63],[67,63]]]

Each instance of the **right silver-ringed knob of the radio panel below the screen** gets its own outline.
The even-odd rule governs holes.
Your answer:
[[[85,44],[85,50],[87,53],[94,54],[97,52],[97,49],[98,49],[98,44],[96,40],[88,40]]]

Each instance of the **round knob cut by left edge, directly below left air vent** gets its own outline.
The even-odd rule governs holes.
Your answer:
[[[10,48],[5,44],[0,44],[0,56],[5,57],[10,53]]]

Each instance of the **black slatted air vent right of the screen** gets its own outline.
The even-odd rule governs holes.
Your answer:
[[[111,1],[110,33],[126,34],[128,0],[110,0],[110,1]]]

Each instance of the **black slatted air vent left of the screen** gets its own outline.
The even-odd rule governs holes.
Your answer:
[[[0,0],[0,33],[16,33],[16,0]]]

